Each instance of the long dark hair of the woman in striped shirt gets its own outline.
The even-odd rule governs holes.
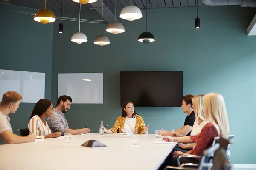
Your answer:
[[[29,120],[35,115],[41,116],[42,114],[44,114],[44,112],[47,111],[47,109],[51,106],[51,104],[52,102],[48,99],[40,99],[35,104]]]

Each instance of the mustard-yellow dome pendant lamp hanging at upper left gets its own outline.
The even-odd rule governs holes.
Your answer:
[[[40,9],[35,13],[34,20],[42,24],[54,22],[55,15],[49,9],[46,9],[46,0],[44,0],[44,9]]]

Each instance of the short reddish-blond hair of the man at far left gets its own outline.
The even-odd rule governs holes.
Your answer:
[[[3,94],[0,106],[6,107],[9,104],[15,103],[20,100],[22,100],[22,96],[19,93],[15,91],[7,91],[5,94]]]

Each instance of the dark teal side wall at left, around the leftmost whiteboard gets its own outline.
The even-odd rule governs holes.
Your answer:
[[[15,11],[36,11],[0,3],[0,69],[45,73],[45,97],[51,97],[53,24],[42,25],[33,15]],[[2,96],[0,96],[2,98]],[[20,103],[10,114],[13,132],[27,128],[34,103]]]

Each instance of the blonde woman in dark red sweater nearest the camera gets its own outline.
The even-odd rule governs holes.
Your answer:
[[[218,93],[209,93],[204,98],[204,110],[205,119],[207,123],[201,133],[195,136],[184,136],[184,137],[172,137],[164,136],[163,139],[167,142],[178,142],[178,143],[192,143],[198,142],[194,149],[186,152],[185,154],[201,156],[203,151],[212,145],[214,137],[221,136],[228,138],[229,134],[229,123],[227,119],[227,111],[223,96]],[[183,154],[183,152],[176,151],[173,154],[173,158],[166,160],[164,164],[177,166],[176,156]],[[180,164],[183,163],[196,163],[200,159],[180,159]]]

